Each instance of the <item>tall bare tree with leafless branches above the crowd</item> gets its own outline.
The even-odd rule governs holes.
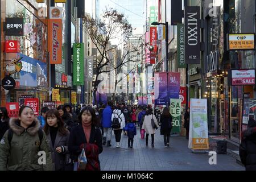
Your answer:
[[[93,98],[94,103],[97,104],[96,92],[98,90],[98,78],[101,73],[109,73],[111,71],[117,70],[129,63],[134,61],[128,58],[132,52],[137,51],[135,47],[131,47],[127,44],[129,37],[132,35],[133,28],[131,24],[127,21],[124,14],[120,14],[117,10],[106,9],[103,13],[101,19],[93,19],[89,16],[83,17],[83,31],[87,34],[94,46],[96,46],[99,53],[97,59],[97,72],[96,72],[96,82],[94,84]],[[118,44],[115,46],[109,46],[113,40],[118,40]],[[123,46],[124,55],[123,59],[119,63],[114,63],[114,59],[109,57],[109,53],[114,49],[118,49],[119,46]],[[104,69],[110,67],[111,69]]]

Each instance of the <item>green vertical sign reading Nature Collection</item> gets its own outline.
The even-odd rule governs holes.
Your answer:
[[[84,85],[84,44],[73,44],[73,84]]]

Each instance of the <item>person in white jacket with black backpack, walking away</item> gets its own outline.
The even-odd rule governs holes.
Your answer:
[[[125,116],[123,115],[120,109],[120,106],[115,107],[115,110],[113,111],[113,114],[111,117],[111,121],[112,121],[112,128],[115,134],[116,147],[119,148],[122,129],[123,127],[125,127]]]

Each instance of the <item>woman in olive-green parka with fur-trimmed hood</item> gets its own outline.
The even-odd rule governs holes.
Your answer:
[[[9,122],[0,142],[0,171],[51,171],[52,158],[46,134],[31,107],[22,106],[19,118]],[[40,164],[43,151],[46,163]]]

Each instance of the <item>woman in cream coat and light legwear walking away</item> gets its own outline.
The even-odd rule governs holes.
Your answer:
[[[158,121],[156,120],[155,115],[152,113],[152,109],[148,109],[144,117],[142,129],[146,131],[146,146],[148,146],[148,135],[151,134],[151,146],[153,148],[155,128],[152,127],[152,122],[155,123],[156,127],[159,127]]]

